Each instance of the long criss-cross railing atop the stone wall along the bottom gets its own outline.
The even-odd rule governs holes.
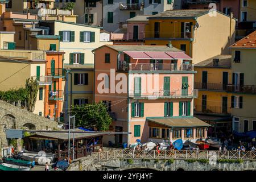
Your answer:
[[[92,152],[94,161],[106,161],[114,159],[243,159],[256,160],[256,151],[171,151],[162,150],[158,154],[156,150],[114,150],[104,152]]]

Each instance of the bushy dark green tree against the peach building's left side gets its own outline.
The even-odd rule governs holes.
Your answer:
[[[112,118],[102,102],[72,106],[71,115],[76,117],[76,126],[96,127],[97,131],[108,131],[112,123]]]

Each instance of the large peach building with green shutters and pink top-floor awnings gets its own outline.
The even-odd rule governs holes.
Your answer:
[[[94,101],[113,118],[104,143],[174,142],[207,137],[207,123],[193,117],[191,57],[171,46],[105,45],[95,55]]]

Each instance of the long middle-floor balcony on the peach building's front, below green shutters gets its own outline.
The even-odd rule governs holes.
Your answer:
[[[198,90],[160,90],[154,93],[140,94],[129,90],[129,97],[133,99],[156,100],[158,98],[197,98]]]

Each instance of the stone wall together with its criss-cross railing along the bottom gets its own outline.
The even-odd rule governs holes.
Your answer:
[[[69,165],[69,171],[252,171],[256,152],[246,151],[107,151],[93,152]]]

